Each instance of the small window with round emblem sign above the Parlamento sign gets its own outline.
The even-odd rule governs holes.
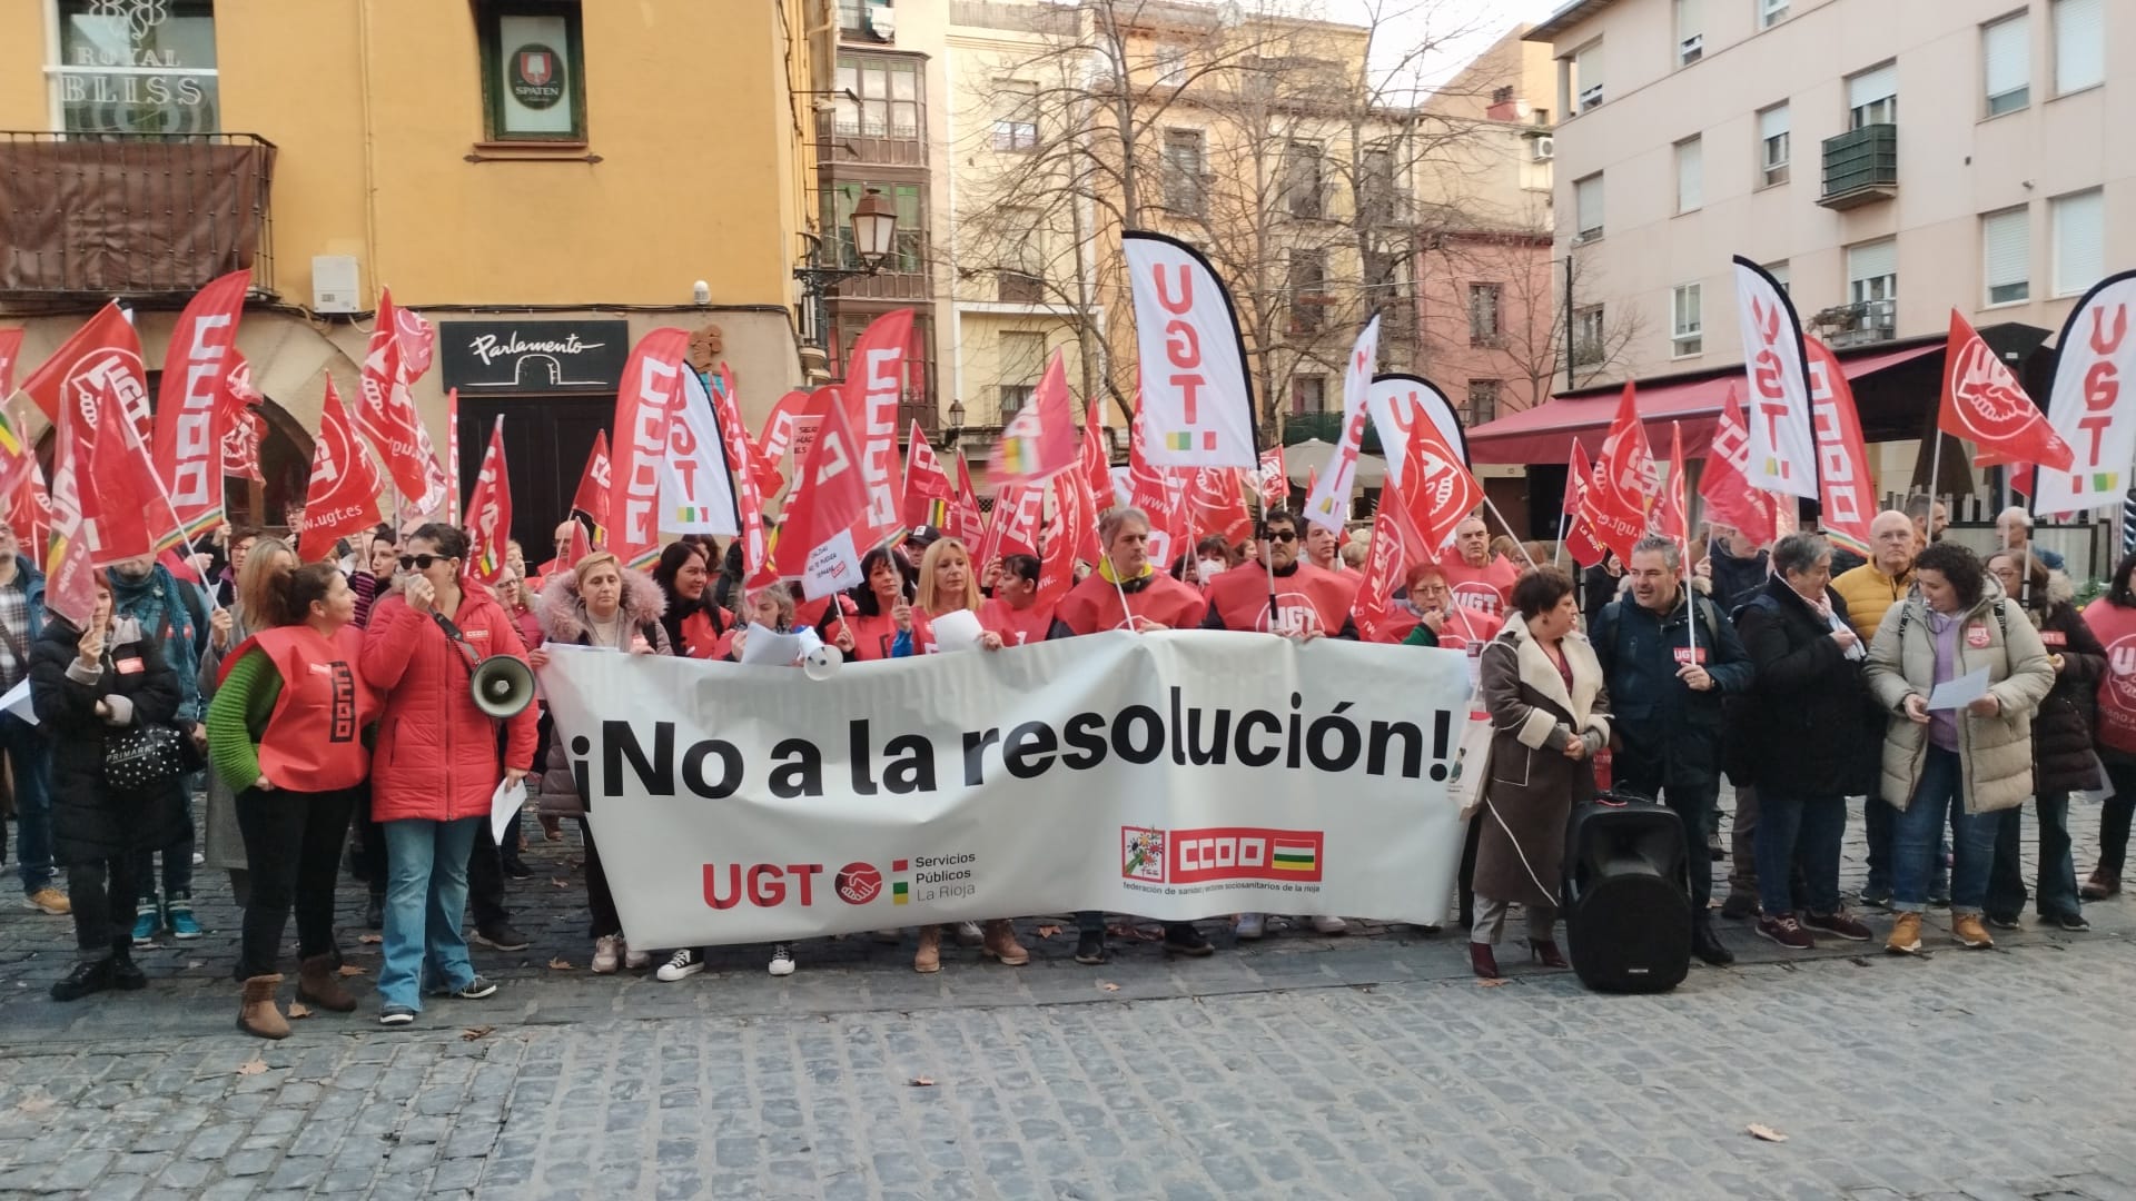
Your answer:
[[[585,141],[579,4],[485,0],[476,28],[489,141]]]

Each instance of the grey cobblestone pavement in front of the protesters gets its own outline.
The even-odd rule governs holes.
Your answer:
[[[1658,998],[1542,968],[1482,989],[1459,936],[1373,923],[1081,968],[1038,919],[1021,970],[918,977],[908,936],[658,983],[585,972],[575,855],[538,844],[513,883],[534,945],[476,951],[491,1000],[382,1030],[357,979],[357,1015],[282,1043],[231,1028],[209,872],[207,938],[145,953],[141,994],[51,1002],[68,923],[6,910],[0,1197],[2136,1197],[2125,900],[1925,960],[1781,962],[1722,923],[1741,964]]]

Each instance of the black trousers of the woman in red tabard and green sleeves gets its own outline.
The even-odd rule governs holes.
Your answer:
[[[269,977],[282,957],[282,932],[297,910],[297,957],[331,955],[333,885],[357,789],[293,793],[244,789],[237,829],[246,838],[252,895],[246,898],[237,979]]]

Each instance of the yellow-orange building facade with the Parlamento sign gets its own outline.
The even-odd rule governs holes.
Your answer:
[[[703,333],[752,419],[803,380],[833,34],[831,0],[9,4],[0,173],[53,175],[0,214],[0,325],[28,372],[122,297],[156,365],[190,293],[250,267],[237,346],[273,434],[233,509],[276,524],[391,286],[438,325],[434,442],[457,387],[466,485],[504,415],[517,530],[545,545],[643,331]]]

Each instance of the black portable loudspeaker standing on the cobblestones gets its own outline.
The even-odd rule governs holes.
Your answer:
[[[1566,831],[1566,938],[1596,992],[1668,992],[1692,966],[1683,821],[1647,797],[1600,793]]]

